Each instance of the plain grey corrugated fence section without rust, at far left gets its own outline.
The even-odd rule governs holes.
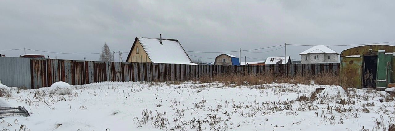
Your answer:
[[[8,87],[31,88],[30,59],[0,57],[0,80]]]

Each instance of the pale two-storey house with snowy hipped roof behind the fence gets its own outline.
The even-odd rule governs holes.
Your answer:
[[[304,52],[299,53],[301,55],[302,64],[316,64],[316,63],[338,63],[337,55],[339,53],[333,51],[327,46],[313,46]]]

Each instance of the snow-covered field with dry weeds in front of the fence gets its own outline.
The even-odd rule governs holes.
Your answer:
[[[1,131],[381,131],[395,123],[386,92],[327,85],[106,82],[11,88],[0,98],[29,117],[0,119]],[[315,92],[317,88],[326,88]],[[66,93],[66,95],[60,95]],[[382,101],[382,102],[380,102]]]

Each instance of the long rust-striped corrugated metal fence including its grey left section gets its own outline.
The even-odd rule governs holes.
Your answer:
[[[0,57],[0,80],[9,87],[38,89],[57,81],[82,85],[103,81],[187,81],[226,74],[338,74],[339,64],[182,65]]]

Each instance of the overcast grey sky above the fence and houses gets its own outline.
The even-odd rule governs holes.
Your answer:
[[[98,53],[107,42],[115,52],[129,52],[135,37],[158,38],[162,33],[164,38],[178,39],[188,51],[248,50],[288,43],[329,45],[340,53],[354,46],[330,45],[395,41],[394,5],[394,0],[1,0],[0,50]],[[298,54],[307,48],[287,46],[287,55],[300,59]],[[24,50],[0,54],[16,57]],[[99,59],[99,54],[31,50],[26,54]],[[188,54],[208,58],[220,55]],[[239,52],[229,54],[239,56]],[[258,59],[283,55],[284,48],[241,54]]]

